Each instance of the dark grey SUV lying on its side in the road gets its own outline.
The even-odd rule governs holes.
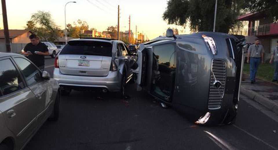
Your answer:
[[[138,50],[137,90],[145,89],[197,124],[235,120],[243,44],[233,35],[199,32],[158,37]],[[167,81],[167,82],[165,82]]]

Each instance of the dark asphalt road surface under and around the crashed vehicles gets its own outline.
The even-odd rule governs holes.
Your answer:
[[[45,62],[52,74],[54,59]],[[162,108],[134,85],[127,92],[127,101],[77,91],[62,97],[59,120],[45,122],[25,150],[278,149],[278,116],[244,95],[234,125],[206,127]]]

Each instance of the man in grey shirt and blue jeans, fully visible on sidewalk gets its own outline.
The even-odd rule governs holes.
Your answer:
[[[256,74],[260,62],[264,63],[264,47],[260,44],[260,40],[257,38],[255,44],[252,44],[248,48],[247,63],[250,60],[250,80],[251,84],[256,82]]]

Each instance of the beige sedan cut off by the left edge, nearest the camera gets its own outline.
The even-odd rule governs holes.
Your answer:
[[[23,149],[49,118],[59,117],[60,91],[27,58],[0,53],[0,149]]]

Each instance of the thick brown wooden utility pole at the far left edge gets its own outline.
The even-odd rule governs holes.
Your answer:
[[[3,15],[5,42],[6,42],[6,51],[11,52],[10,35],[9,35],[7,10],[6,10],[6,0],[1,0],[1,2],[2,2],[2,15]]]

